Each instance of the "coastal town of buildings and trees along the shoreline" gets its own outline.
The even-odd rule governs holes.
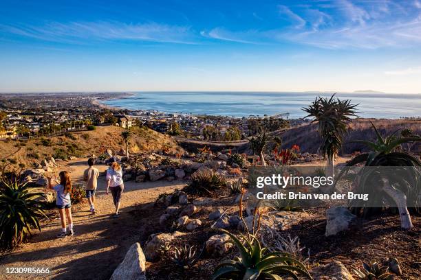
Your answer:
[[[305,120],[288,115],[225,117],[163,113],[158,110],[110,108],[100,100],[124,97],[124,93],[45,93],[0,95],[0,139],[29,139],[114,125],[122,128],[147,126],[169,135],[209,141],[235,141],[255,135],[263,126],[279,130]]]

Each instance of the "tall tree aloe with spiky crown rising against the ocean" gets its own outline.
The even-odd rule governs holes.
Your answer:
[[[336,93],[335,93],[336,94]],[[351,117],[356,117],[356,105],[351,104],[351,100],[339,100],[335,94],[327,97],[316,97],[316,100],[307,108],[302,108],[306,117],[313,117],[313,122],[319,123],[319,133],[323,139],[321,152],[327,156],[326,176],[334,176],[334,156],[341,150],[345,133],[347,132],[347,122]]]

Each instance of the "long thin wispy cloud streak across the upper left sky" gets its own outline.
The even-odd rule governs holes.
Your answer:
[[[43,26],[0,25],[1,32],[61,43],[84,40],[140,40],[162,43],[194,43],[190,27],[159,23],[129,24],[116,21],[46,23]]]

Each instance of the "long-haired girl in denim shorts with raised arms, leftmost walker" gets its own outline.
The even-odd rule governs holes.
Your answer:
[[[67,235],[74,235],[73,232],[73,219],[72,219],[72,202],[70,200],[70,194],[72,193],[72,180],[70,174],[67,171],[62,171],[58,174],[60,182],[55,178],[57,185],[52,185],[52,177],[48,178],[48,188],[54,189],[57,193],[56,206],[58,213],[60,213],[61,220],[61,233],[57,237],[66,237]],[[69,232],[66,230],[66,216],[69,222]]]

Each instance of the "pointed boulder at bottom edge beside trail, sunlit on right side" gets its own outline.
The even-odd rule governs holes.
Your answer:
[[[131,245],[125,259],[118,265],[110,280],[146,280],[146,259],[140,244]]]

